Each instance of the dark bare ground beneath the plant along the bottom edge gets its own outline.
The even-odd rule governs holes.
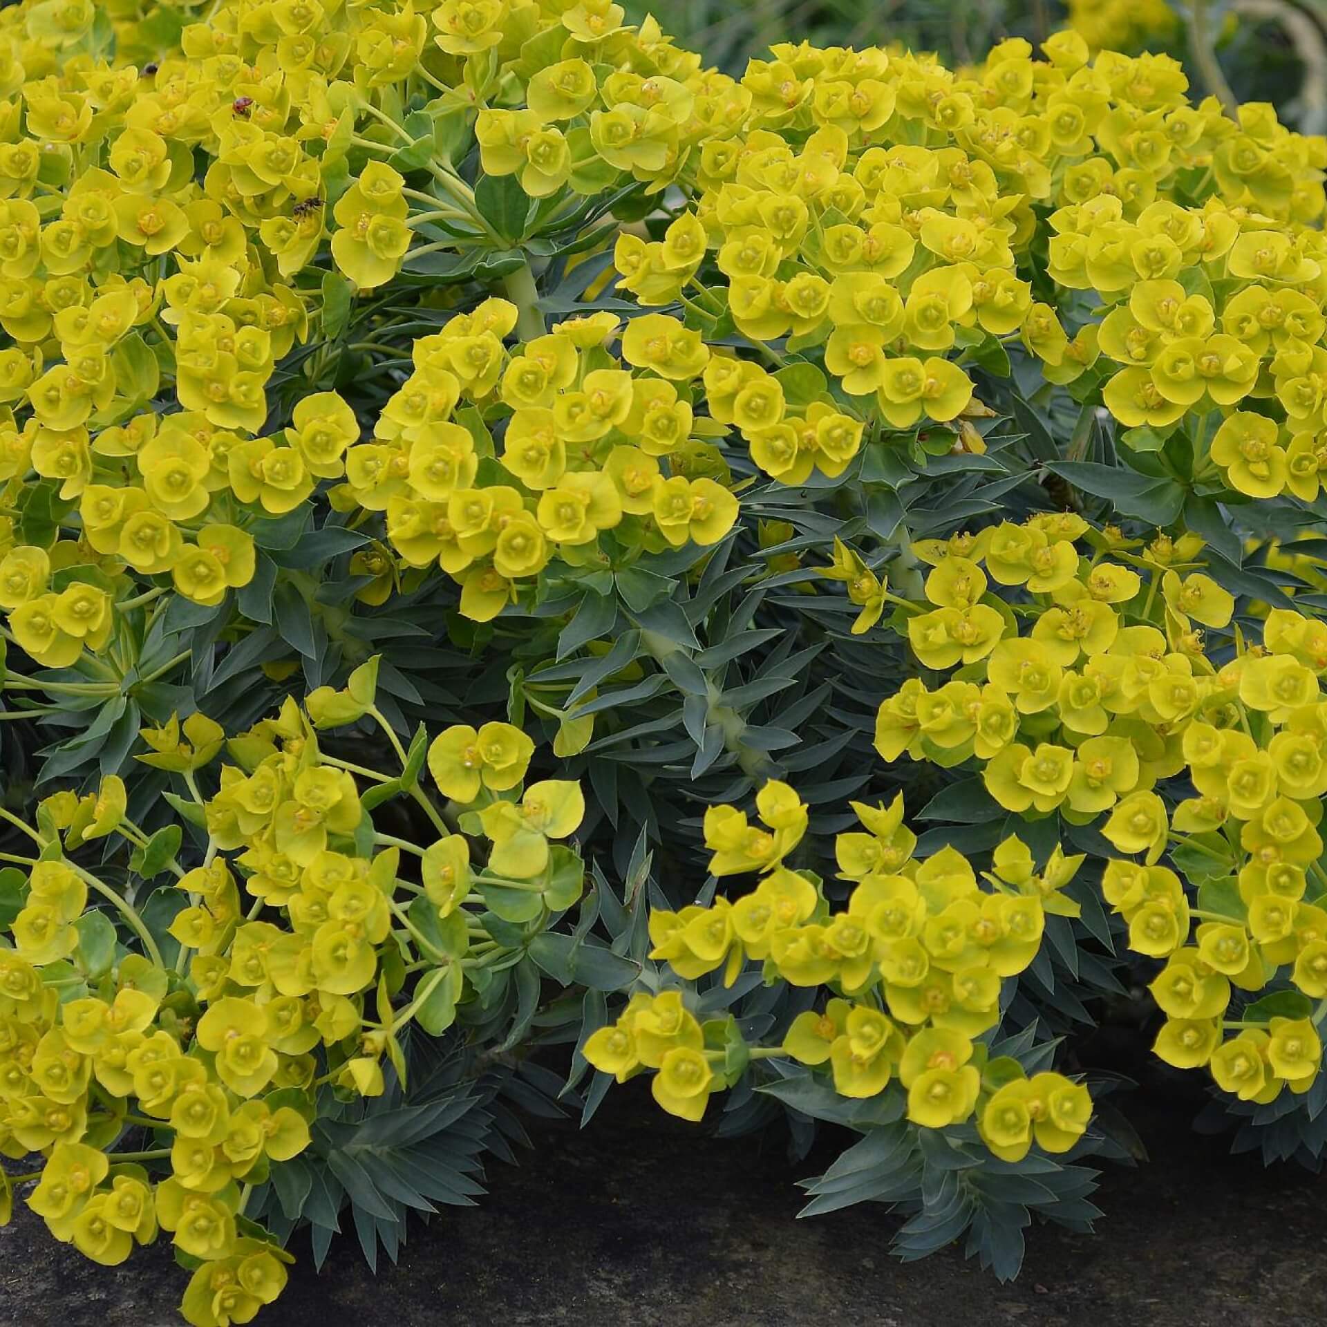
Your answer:
[[[1097,1062],[1108,1059],[1103,1055]],[[1124,1068],[1125,1066],[1115,1066]],[[1265,1169],[1201,1137],[1197,1075],[1140,1070],[1117,1097],[1151,1156],[1107,1164],[1093,1235],[1027,1230],[1016,1282],[999,1285],[958,1247],[924,1262],[889,1257],[882,1206],[795,1221],[798,1178],[833,1151],[790,1164],[783,1141],[709,1137],[667,1119],[641,1083],[617,1088],[580,1132],[531,1127],[533,1152],[495,1161],[478,1208],[413,1222],[374,1278],[353,1234],[321,1275],[305,1241],[260,1327],[1319,1327],[1314,1285],[1327,1237],[1316,1176]],[[835,1141],[841,1145],[845,1139]],[[349,1229],[349,1226],[348,1226]],[[16,1204],[0,1230],[0,1327],[167,1327],[184,1273],[165,1243],[118,1269],[56,1243]]]

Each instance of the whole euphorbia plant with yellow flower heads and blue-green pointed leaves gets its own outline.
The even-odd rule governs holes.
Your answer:
[[[0,12],[0,1131],[58,1237],[155,1221],[243,1320],[297,1223],[472,1192],[499,1093],[649,1070],[1010,1275],[1121,1151],[1125,962],[1322,1152],[1327,143],[1074,32],[178,17]]]

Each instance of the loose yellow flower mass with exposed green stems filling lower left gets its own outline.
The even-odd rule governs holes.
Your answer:
[[[376,714],[374,678],[365,666],[348,691],[311,697],[311,713],[322,727]],[[170,845],[155,847],[159,833],[145,837],[117,778],[81,799],[48,798],[36,828],[24,825],[38,857],[5,859],[25,861],[27,878],[3,928],[12,947],[0,947],[0,1154],[42,1153],[40,1172],[19,1177],[38,1180],[29,1206],[97,1262],[121,1263],[169,1231],[196,1261],[184,1316],[219,1327],[247,1322],[285,1283],[292,1259],[257,1237],[244,1202],[272,1162],[309,1145],[316,1088],[381,1093],[384,1059],[405,1076],[406,1024],[438,1035],[466,1016],[464,1002],[482,1002],[484,970],[511,949],[464,905],[536,929],[571,906],[580,860],[549,840],[577,828],[584,803],[564,780],[523,790],[533,744],[508,725],[451,727],[427,752],[421,734],[394,788],[374,775],[429,811],[441,837],[421,848],[374,832],[356,776],[320,752],[293,701],[230,739],[239,766],[222,764],[210,799],[198,774],[222,748],[216,725],[195,715],[186,740],[178,725],[142,735],[141,759],[194,798],[182,805],[207,827],[207,860],[183,871]],[[467,837],[449,833],[411,782],[425,759],[439,790],[474,812],[467,829],[491,841],[484,867],[471,868]],[[167,930],[154,936],[73,859],[111,833],[139,860],[155,856],[145,876],[175,874]],[[139,951],[117,942],[104,904]],[[167,936],[179,946],[170,961]],[[153,1144],[123,1151],[137,1129]],[[143,1165],[158,1161],[169,1178]],[[5,1218],[11,1178],[0,1181]]]

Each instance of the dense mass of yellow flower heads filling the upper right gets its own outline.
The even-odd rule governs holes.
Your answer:
[[[1165,56],[1088,65],[1067,33],[1044,50],[1038,64],[1010,40],[962,77],[910,56],[775,48],[743,78],[743,134],[702,147],[693,212],[653,243],[618,236],[621,284],[645,304],[694,287],[698,309],[813,354],[894,430],[955,419],[973,384],[950,356],[1016,338],[1048,381],[1083,398],[1100,386],[1125,427],[1164,435],[1225,413],[1213,470],[1251,496],[1289,486],[1311,500],[1319,453],[1327,466],[1327,142],[1267,106],[1238,123],[1214,98],[1190,106]],[[1044,223],[1034,203],[1054,206]],[[695,279],[702,235],[722,292]],[[1047,240],[1059,308],[1030,279]],[[743,434],[776,479],[817,463],[799,418]]]

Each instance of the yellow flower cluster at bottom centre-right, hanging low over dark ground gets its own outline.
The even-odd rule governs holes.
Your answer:
[[[1046,913],[1078,914],[1062,890],[1083,859],[1056,848],[1038,872],[1026,844],[1010,837],[983,890],[953,848],[913,859],[917,837],[902,823],[901,796],[888,808],[852,808],[865,832],[837,836],[839,874],[853,890],[847,910],[831,913],[816,880],[783,864],[807,828],[788,784],[771,780],[756,794],[764,828],[736,807],[710,807],[710,871],[758,872],[759,884],[735,902],[721,896],[710,906],[652,912],[650,957],[686,982],[722,969],[731,985],[755,959],[768,982],[828,986],[835,994],[821,1011],[798,1014],[779,1046],[754,1054],[828,1064],[847,1097],[878,1096],[897,1078],[913,1124],[940,1129],[975,1112],[1005,1160],[1020,1160],[1034,1139],[1048,1152],[1070,1151],[1091,1117],[1087,1088],[1059,1074],[1028,1079],[1015,1060],[987,1062],[975,1038],[999,1020],[1002,979],[1036,957]],[[752,1054],[733,1068],[726,1036],[722,1022],[702,1026],[679,990],[637,994],[589,1038],[585,1056],[618,1082],[654,1070],[660,1105],[699,1120],[710,1093],[730,1087]]]

